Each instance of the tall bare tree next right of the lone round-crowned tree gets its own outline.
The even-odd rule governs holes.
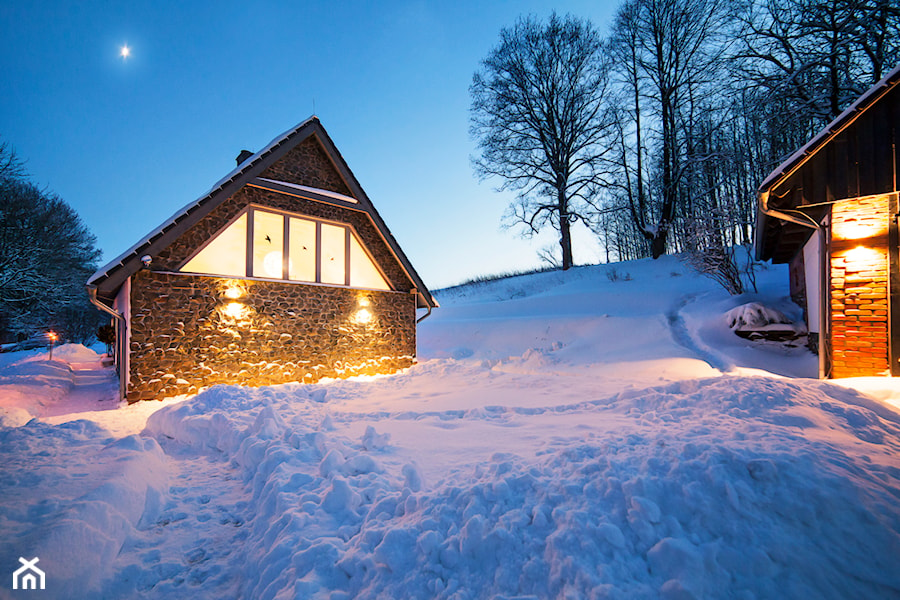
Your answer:
[[[723,0],[629,0],[616,18],[617,170],[654,258],[665,254],[685,196],[696,99],[721,70],[723,8]]]

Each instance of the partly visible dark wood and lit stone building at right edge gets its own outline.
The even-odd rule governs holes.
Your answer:
[[[790,263],[819,376],[900,375],[900,66],[775,169],[756,254]]]

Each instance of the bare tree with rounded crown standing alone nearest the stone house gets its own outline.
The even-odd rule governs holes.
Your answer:
[[[477,173],[517,192],[509,217],[526,234],[548,224],[559,231],[563,269],[573,265],[570,228],[587,221],[606,152],[607,71],[593,26],[554,13],[504,28],[470,88]]]

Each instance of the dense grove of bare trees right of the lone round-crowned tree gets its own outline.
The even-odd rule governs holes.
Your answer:
[[[900,4],[626,0],[609,54],[597,204],[626,210],[594,219],[607,256],[724,256],[753,239],[754,190],[772,167],[900,60]]]

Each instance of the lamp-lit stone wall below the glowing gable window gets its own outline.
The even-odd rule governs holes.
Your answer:
[[[415,359],[415,307],[411,293],[139,271],[126,396],[394,372]]]

